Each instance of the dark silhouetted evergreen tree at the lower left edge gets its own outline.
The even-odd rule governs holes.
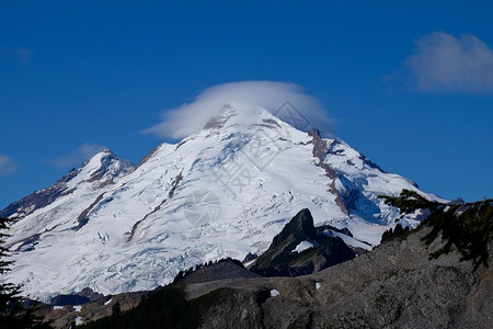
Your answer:
[[[9,249],[3,247],[5,238],[4,231],[9,228],[13,218],[0,218],[0,275],[4,276],[9,272],[12,261],[7,260]],[[0,329],[3,328],[50,328],[47,324],[42,324],[41,319],[33,315],[34,307],[24,307],[26,299],[21,296],[21,286],[4,282],[0,276]]]

